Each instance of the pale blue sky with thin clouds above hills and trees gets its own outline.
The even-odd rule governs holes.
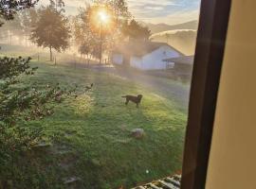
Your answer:
[[[42,0],[45,4],[48,0]],[[88,0],[64,0],[66,13],[76,14]],[[176,25],[199,16],[200,0],[127,0],[129,10],[137,21]]]

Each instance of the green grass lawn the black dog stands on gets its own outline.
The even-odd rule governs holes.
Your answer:
[[[27,79],[30,86],[59,82],[70,88],[76,83],[82,92],[95,84],[92,91],[58,105],[51,117],[32,123],[44,128],[59,152],[56,177],[79,177],[81,188],[129,188],[181,169],[187,115],[174,101],[121,77],[33,64],[39,70]],[[143,94],[140,108],[126,107],[124,94]],[[145,130],[143,139],[131,137],[137,128]]]

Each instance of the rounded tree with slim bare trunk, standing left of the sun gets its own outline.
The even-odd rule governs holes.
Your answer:
[[[68,47],[69,32],[64,15],[48,6],[38,10],[38,21],[32,29],[31,40],[38,46],[48,47],[52,61],[52,49],[61,52]]]

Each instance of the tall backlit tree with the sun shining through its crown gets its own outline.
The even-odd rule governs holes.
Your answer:
[[[101,9],[105,9],[109,17],[108,23],[104,26],[101,26],[99,18],[97,18],[99,17],[99,10],[101,11]],[[131,17],[126,1],[93,0],[93,6],[87,7],[86,12],[88,14],[86,18],[88,19],[89,27],[92,28],[94,35],[97,37],[96,41],[99,44],[99,48],[101,49],[102,46],[102,52],[109,55],[115,44],[122,41],[121,26]],[[98,26],[94,26],[95,23],[98,23]],[[99,50],[94,50],[95,56],[97,51]],[[101,59],[99,55],[96,57]]]

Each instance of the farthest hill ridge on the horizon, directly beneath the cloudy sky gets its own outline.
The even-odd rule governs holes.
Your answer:
[[[179,25],[167,25],[167,24],[149,24],[149,23],[144,23],[144,25],[148,26],[149,29],[151,30],[152,34],[159,33],[162,31],[168,31],[168,30],[177,30],[177,29],[192,29],[192,30],[197,30],[198,26],[198,21],[190,21],[187,23],[182,23]]]

